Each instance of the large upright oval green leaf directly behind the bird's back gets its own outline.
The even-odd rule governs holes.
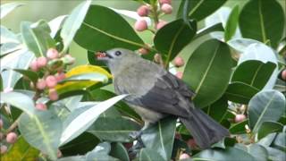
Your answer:
[[[209,39],[201,44],[186,64],[183,80],[197,95],[196,106],[207,106],[223,96],[231,78],[231,51],[223,42]]]

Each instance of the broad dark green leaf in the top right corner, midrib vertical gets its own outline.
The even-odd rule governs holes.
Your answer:
[[[244,38],[257,39],[263,43],[270,40],[276,48],[284,29],[282,6],[276,1],[248,1],[240,13],[240,30]]]

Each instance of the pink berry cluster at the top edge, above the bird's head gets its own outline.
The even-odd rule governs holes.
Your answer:
[[[139,6],[137,13],[141,17],[150,16],[155,18],[155,30],[159,30],[167,23],[166,21],[159,20],[158,15],[160,14],[171,14],[172,13],[172,1],[171,0],[159,0],[159,6],[144,4]],[[140,19],[135,22],[135,30],[144,31],[148,29],[147,21]]]

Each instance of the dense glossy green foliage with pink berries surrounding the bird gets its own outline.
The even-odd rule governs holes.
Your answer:
[[[86,1],[53,21],[22,21],[20,33],[1,25],[1,160],[285,160],[281,4],[248,0],[229,8],[227,0],[181,0],[167,22],[171,0],[136,1],[137,12]],[[21,5],[2,4],[1,19]],[[71,68],[71,41],[87,50],[79,55],[90,64]],[[130,154],[130,132],[143,122],[121,101],[125,95],[115,96],[111,74],[95,58],[114,47],[184,80],[196,92],[195,105],[230,138],[199,149],[183,124],[166,117],[143,132],[145,148]]]

